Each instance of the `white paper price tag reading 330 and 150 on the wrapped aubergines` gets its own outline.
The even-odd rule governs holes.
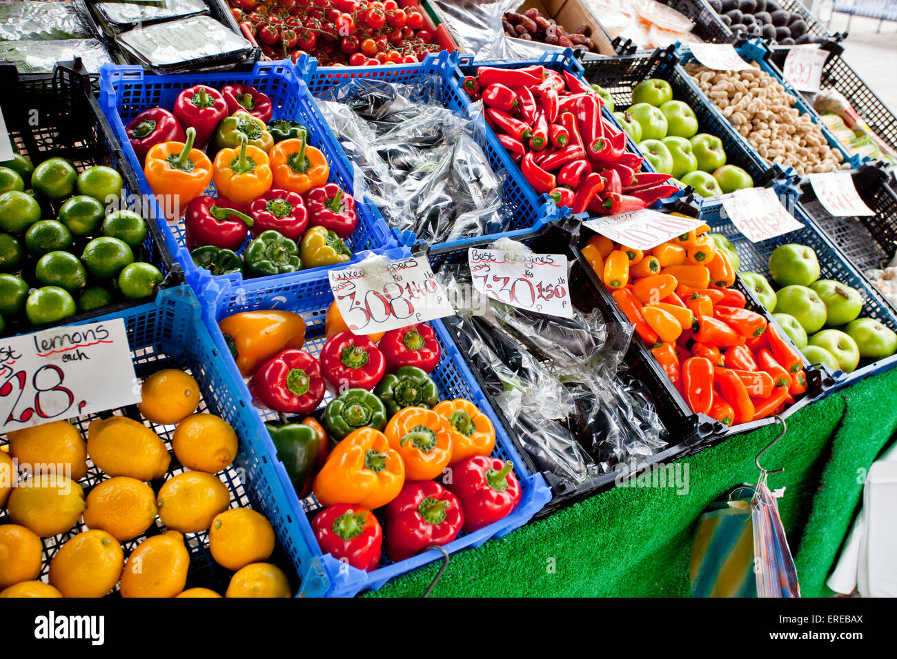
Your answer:
[[[510,256],[501,249],[467,250],[474,288],[499,302],[549,316],[573,317],[567,258],[562,254]]]

